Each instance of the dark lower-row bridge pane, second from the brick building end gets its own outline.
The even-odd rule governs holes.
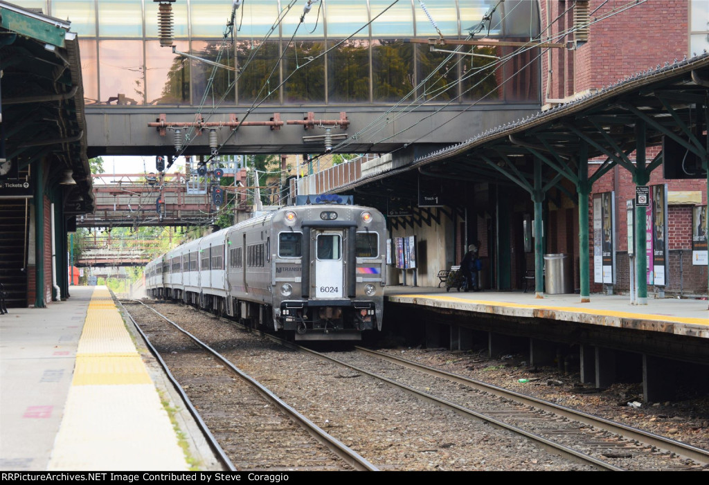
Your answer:
[[[498,47],[476,45],[466,52],[486,56],[500,56]],[[497,60],[491,57],[466,56],[462,59],[462,98],[465,101],[497,101],[503,96],[501,70],[496,70]]]

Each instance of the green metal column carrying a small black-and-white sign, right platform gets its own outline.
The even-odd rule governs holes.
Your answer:
[[[650,174],[645,166],[645,122],[637,120],[636,167],[634,179],[636,186],[647,186]],[[637,304],[647,304],[647,207],[635,208],[635,274],[637,275]]]

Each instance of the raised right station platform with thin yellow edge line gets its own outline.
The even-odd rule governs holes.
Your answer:
[[[445,287],[386,287],[389,302],[462,310],[520,319],[544,318],[582,324],[669,332],[709,338],[709,309],[705,299],[648,297],[647,305],[630,304],[623,295],[591,295],[581,303],[579,295],[545,295],[523,292],[447,292]]]

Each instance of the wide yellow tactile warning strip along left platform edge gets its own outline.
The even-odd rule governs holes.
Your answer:
[[[106,287],[96,287],[48,466],[186,470],[167,411]]]

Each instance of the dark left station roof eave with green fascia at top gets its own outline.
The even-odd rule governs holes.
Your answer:
[[[1,105],[5,156],[22,172],[38,159],[55,186],[68,171],[65,214],[93,212],[79,40],[69,22],[0,1]]]

